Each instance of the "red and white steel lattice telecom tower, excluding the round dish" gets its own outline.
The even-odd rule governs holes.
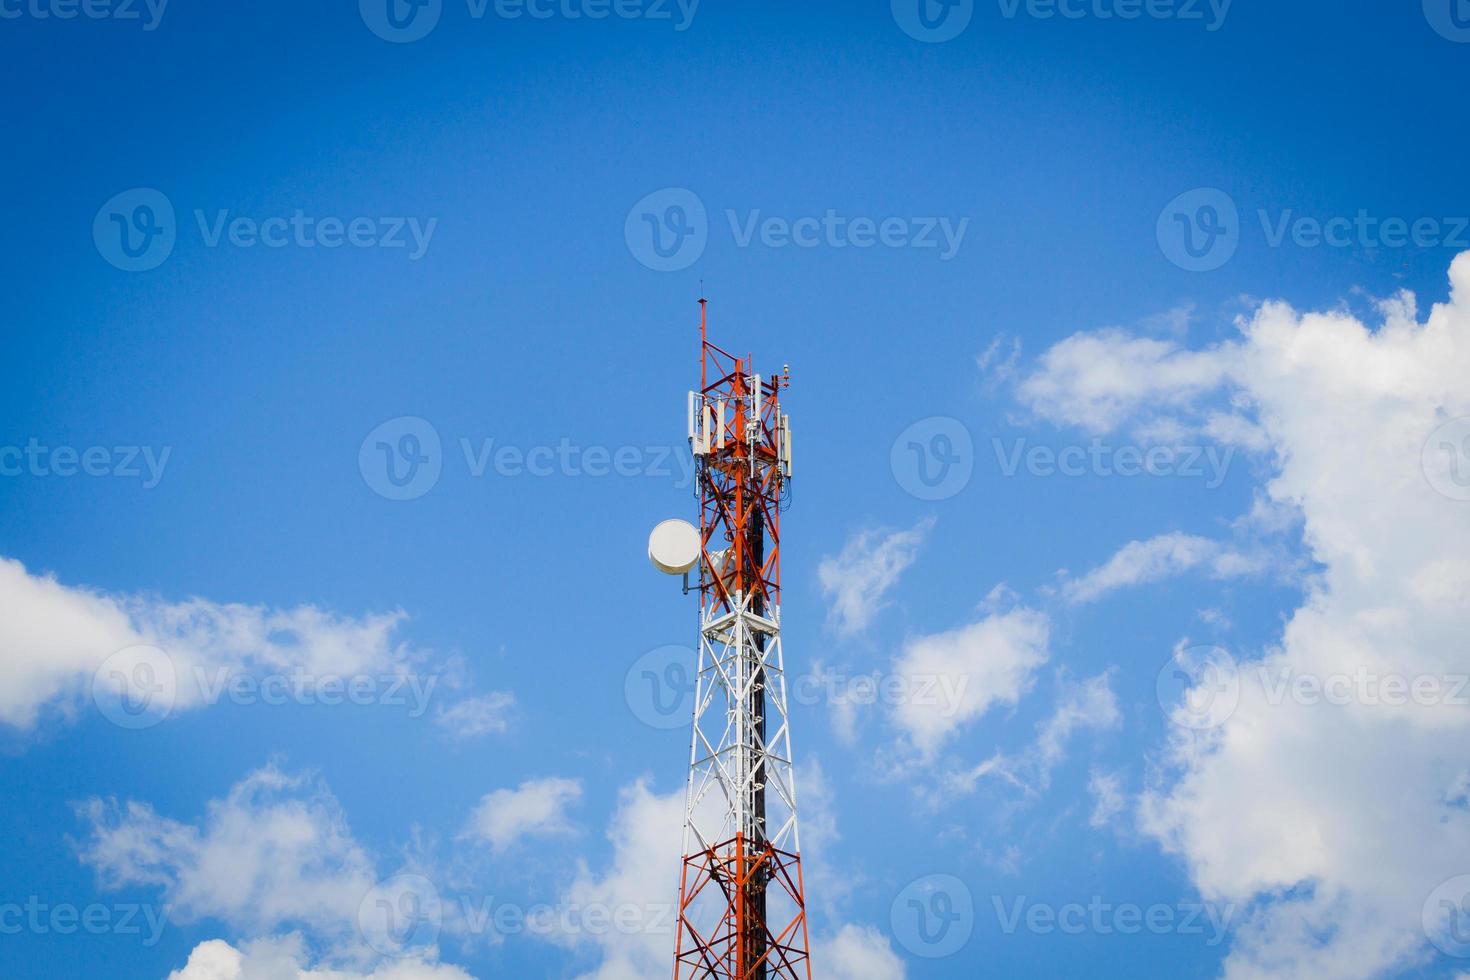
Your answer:
[[[791,378],[761,378],[750,357],[711,344],[707,313],[700,300],[700,389],[688,406],[700,657],[673,976],[810,980],[781,646]]]

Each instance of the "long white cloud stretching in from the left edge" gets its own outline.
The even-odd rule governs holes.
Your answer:
[[[163,651],[160,680],[175,711],[219,696],[240,673],[310,686],[326,677],[415,676],[422,661],[394,638],[403,613],[359,619],[312,605],[165,602],[66,586],[9,558],[0,558],[0,724],[21,730],[47,708],[75,713],[98,669],[135,646]]]

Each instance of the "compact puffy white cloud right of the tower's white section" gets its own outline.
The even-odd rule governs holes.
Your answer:
[[[894,707],[894,720],[925,758],[958,729],[997,704],[1016,704],[1047,663],[1051,626],[1025,607],[994,613],[947,633],[910,639],[894,674],[916,696]],[[935,696],[917,696],[929,691]],[[948,692],[945,696],[938,696]]]

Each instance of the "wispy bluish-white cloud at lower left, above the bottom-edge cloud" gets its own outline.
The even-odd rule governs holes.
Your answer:
[[[157,886],[178,921],[218,918],[251,934],[309,927],[343,939],[376,882],[331,792],[275,767],[209,804],[200,824],[150,805],[91,799],[81,858],[103,884]]]

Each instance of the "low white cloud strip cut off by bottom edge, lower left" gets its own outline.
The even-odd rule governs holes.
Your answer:
[[[194,948],[182,970],[168,980],[473,980],[459,967],[422,958],[394,959],[370,973],[309,967],[310,956],[298,934],[259,939],[237,949],[222,939]]]

